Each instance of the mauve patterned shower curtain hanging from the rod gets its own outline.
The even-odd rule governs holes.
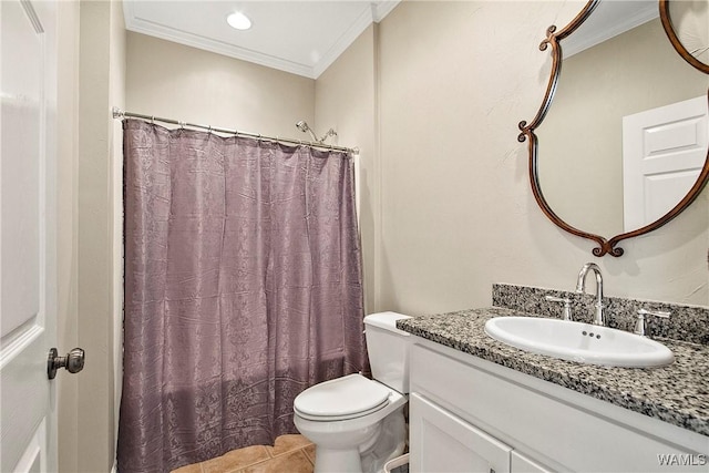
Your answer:
[[[120,472],[296,432],[300,391],[368,368],[352,160],[123,128]]]

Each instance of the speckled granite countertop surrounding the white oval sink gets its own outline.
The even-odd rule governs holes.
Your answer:
[[[709,435],[709,346],[658,339],[675,354],[661,368],[609,368],[530,353],[490,338],[493,317],[530,316],[497,307],[420,316],[397,327],[421,338]]]

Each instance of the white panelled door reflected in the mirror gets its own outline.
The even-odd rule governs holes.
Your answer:
[[[708,123],[706,96],[623,117],[625,232],[657,220],[695,185]]]

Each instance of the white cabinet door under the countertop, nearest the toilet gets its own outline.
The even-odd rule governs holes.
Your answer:
[[[413,473],[510,472],[508,445],[417,393],[409,399]]]

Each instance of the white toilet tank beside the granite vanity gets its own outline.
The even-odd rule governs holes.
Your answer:
[[[410,318],[397,312],[378,312],[364,317],[367,352],[372,378],[401,393],[409,392],[411,336],[397,328],[397,320]]]

